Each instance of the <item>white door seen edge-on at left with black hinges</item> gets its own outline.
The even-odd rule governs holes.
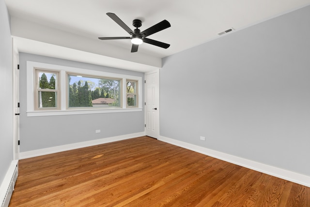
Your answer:
[[[19,69],[18,66],[18,51],[13,45],[13,150],[14,159],[19,159]]]

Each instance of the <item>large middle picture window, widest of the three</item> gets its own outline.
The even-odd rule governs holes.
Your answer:
[[[68,74],[68,107],[121,107],[121,80]]]

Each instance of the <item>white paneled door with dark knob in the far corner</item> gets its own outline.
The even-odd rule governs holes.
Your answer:
[[[159,138],[159,70],[145,73],[145,134]]]

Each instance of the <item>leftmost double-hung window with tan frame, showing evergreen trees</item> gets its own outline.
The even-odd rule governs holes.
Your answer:
[[[35,69],[35,109],[60,109],[59,72]]]

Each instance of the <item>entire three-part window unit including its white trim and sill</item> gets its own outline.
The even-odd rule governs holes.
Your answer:
[[[26,77],[27,116],[142,111],[141,76],[27,61]]]

